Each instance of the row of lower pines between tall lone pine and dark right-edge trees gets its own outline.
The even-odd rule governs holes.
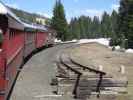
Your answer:
[[[69,34],[71,39],[82,38],[110,38],[114,36],[116,30],[117,12],[114,10],[111,15],[104,12],[102,18],[80,16],[72,18],[69,24]]]

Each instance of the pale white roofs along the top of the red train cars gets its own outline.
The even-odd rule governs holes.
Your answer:
[[[33,25],[22,22],[6,5],[0,2],[0,14],[6,15],[9,19],[9,27],[25,30],[25,31],[47,31],[47,28],[42,25]]]

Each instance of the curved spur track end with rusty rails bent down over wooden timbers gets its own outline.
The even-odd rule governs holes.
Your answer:
[[[70,50],[64,50],[57,57],[55,91],[58,95],[71,95],[86,100],[90,96],[99,98],[127,92],[127,79],[114,79],[102,71],[102,66],[99,69],[89,68],[76,63],[72,58]]]

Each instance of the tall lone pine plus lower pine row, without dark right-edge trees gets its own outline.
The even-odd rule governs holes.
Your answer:
[[[57,38],[61,40],[113,37],[116,30],[118,13],[114,10],[111,15],[104,12],[102,18],[94,16],[74,17],[68,24],[61,0],[56,0],[51,26],[57,31]]]

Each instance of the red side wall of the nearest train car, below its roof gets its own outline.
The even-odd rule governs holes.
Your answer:
[[[9,29],[9,39],[6,43],[6,93],[8,95],[19,67],[23,63],[24,34],[22,31]],[[11,36],[11,37],[10,37]]]

